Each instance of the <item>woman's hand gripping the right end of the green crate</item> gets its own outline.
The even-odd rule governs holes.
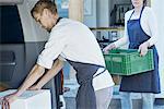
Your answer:
[[[145,56],[147,55],[147,52],[148,52],[148,48],[149,48],[149,43],[148,41],[145,41],[145,43],[143,43],[143,44],[141,44],[140,46],[139,46],[139,52],[140,52],[140,56],[141,57],[143,57],[143,56]]]

